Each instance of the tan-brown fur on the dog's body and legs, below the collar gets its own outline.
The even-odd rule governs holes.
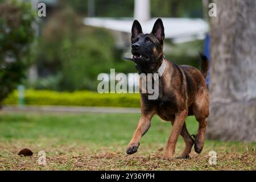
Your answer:
[[[194,140],[189,135],[187,128],[185,126],[185,118],[189,115],[195,114],[197,121],[199,122],[199,130],[196,135],[196,146],[197,151],[201,151],[204,144],[204,133],[206,127],[205,118],[209,115],[209,93],[204,81],[203,75],[196,68],[185,67],[177,71],[177,68],[170,61],[166,61],[166,71],[164,72],[162,79],[164,85],[160,89],[164,90],[165,96],[168,94],[174,95],[177,101],[177,107],[175,110],[157,109],[156,105],[147,105],[143,98],[146,94],[141,94],[141,111],[142,117],[139,119],[139,124],[134,132],[133,138],[131,139],[127,148],[139,146],[142,134],[144,134],[150,127],[150,120],[154,114],[158,114],[160,118],[165,121],[171,121],[173,128],[170,137],[166,143],[166,151],[164,152],[164,159],[170,159],[174,155],[175,145],[177,138],[181,135],[185,142],[185,148],[181,152],[181,158],[188,158],[191,148],[194,144]],[[188,93],[187,81],[185,81],[185,73],[191,76],[191,84],[193,90]],[[141,82],[140,82],[141,84]],[[140,86],[141,87],[141,86]],[[148,107],[151,107],[150,112],[148,112]]]

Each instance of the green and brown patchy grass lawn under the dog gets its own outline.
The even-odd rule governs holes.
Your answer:
[[[134,155],[126,146],[137,127],[139,114],[1,113],[0,170],[255,170],[255,143],[205,140],[200,155],[191,159],[162,160],[170,135],[170,122],[158,117],[141,140]],[[187,127],[196,134],[195,118]],[[18,156],[30,148],[31,157]],[[180,137],[178,155],[184,147]],[[46,151],[45,166],[39,165],[38,152]],[[208,163],[209,151],[217,152],[217,165]]]

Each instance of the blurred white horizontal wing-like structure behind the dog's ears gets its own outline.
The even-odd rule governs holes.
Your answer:
[[[143,32],[150,33],[156,18],[140,22]],[[189,42],[204,39],[208,32],[208,24],[203,19],[192,18],[162,18],[166,39],[172,39],[174,43]],[[85,18],[87,26],[103,27],[110,30],[131,33],[133,20],[119,20],[110,18]]]

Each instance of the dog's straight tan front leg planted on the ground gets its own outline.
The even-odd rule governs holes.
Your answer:
[[[180,111],[175,115],[174,125],[172,127],[171,135],[166,143],[166,151],[164,152],[164,159],[171,159],[174,155],[177,138],[187,117],[187,110]]]

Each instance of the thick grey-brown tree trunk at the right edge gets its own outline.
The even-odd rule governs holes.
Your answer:
[[[213,1],[208,139],[256,141],[256,2]]]

